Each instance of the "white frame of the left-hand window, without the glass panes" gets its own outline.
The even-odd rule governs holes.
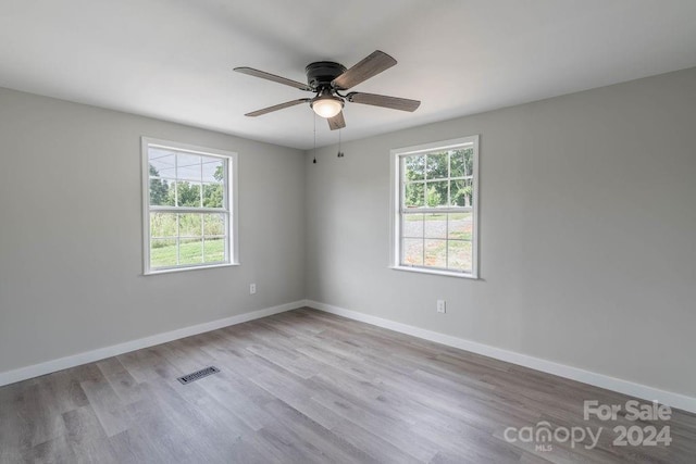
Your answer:
[[[149,171],[149,149],[150,147],[170,149],[178,152],[187,152],[212,158],[224,158],[227,160],[227,173],[225,176],[224,189],[226,193],[226,204],[224,212],[227,214],[226,224],[226,244],[225,261],[222,263],[203,263],[203,264],[186,264],[164,268],[150,267],[150,212],[158,208],[150,205],[150,171]],[[198,147],[188,143],[181,143],[171,140],[162,140],[152,137],[141,137],[141,162],[142,162],[142,261],[144,275],[166,274],[182,271],[203,269],[211,267],[226,267],[239,265],[238,256],[238,234],[237,224],[239,216],[237,201],[237,153],[226,150],[217,150],[206,147]],[[206,208],[187,208],[187,206],[166,206],[166,211],[177,211],[182,213],[220,213],[219,209]]]

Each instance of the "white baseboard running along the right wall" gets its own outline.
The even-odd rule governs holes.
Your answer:
[[[696,413],[696,398],[674,393],[671,391],[660,390],[654,387],[648,387],[646,385],[622,380],[620,378],[611,377],[604,374],[597,374],[594,372],[555,363],[552,361],[547,361],[522,353],[517,353],[514,351],[504,350],[501,348],[490,347],[488,344],[465,340],[463,338],[439,334],[437,331],[426,330],[382,317],[371,316],[369,314],[360,313],[357,311],[320,303],[318,301],[307,300],[306,305],[320,311],[324,311],[326,313],[336,314],[355,321],[384,327],[389,330],[395,330],[425,340],[435,341],[448,347],[459,348],[461,350],[471,351],[473,353],[483,354],[489,358],[495,358],[496,360],[506,361],[512,364],[518,364],[548,374],[554,374],[559,377],[577,380],[583,384],[593,385],[595,387],[606,388],[608,390],[618,391],[619,393],[629,394],[631,397],[641,398],[647,401],[657,401],[661,404],[667,404],[670,407],[676,407],[683,411],[688,411],[691,413]]]

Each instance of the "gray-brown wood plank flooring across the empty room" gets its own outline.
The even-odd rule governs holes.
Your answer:
[[[0,388],[0,463],[696,463],[693,414],[583,419],[629,399],[301,309]],[[506,440],[540,422],[604,430]],[[618,425],[672,442],[617,447]]]

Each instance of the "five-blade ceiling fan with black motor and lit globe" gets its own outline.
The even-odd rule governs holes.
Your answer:
[[[287,79],[252,67],[235,67],[234,71],[316,93],[314,98],[290,100],[285,103],[252,111],[251,113],[247,113],[246,116],[261,116],[262,114],[283,110],[284,108],[309,103],[312,110],[314,110],[314,113],[325,117],[328,121],[328,127],[331,127],[332,130],[335,130],[346,127],[346,121],[344,120],[343,113],[346,101],[411,112],[415,111],[420,106],[421,102],[418,100],[363,92],[341,93],[343,91],[376,76],[383,71],[388,70],[395,64],[395,59],[380,50],[372,52],[360,63],[349,70],[346,70],[346,66],[343,64],[334,63],[333,61],[318,61],[308,64],[304,68],[304,73],[307,74],[307,84]]]

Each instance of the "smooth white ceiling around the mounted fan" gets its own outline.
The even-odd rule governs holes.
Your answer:
[[[304,81],[380,49],[398,65],[353,90],[419,99],[405,113],[348,103],[344,140],[696,65],[694,0],[0,0],[0,86],[311,148]],[[322,120],[318,145],[337,141]]]

